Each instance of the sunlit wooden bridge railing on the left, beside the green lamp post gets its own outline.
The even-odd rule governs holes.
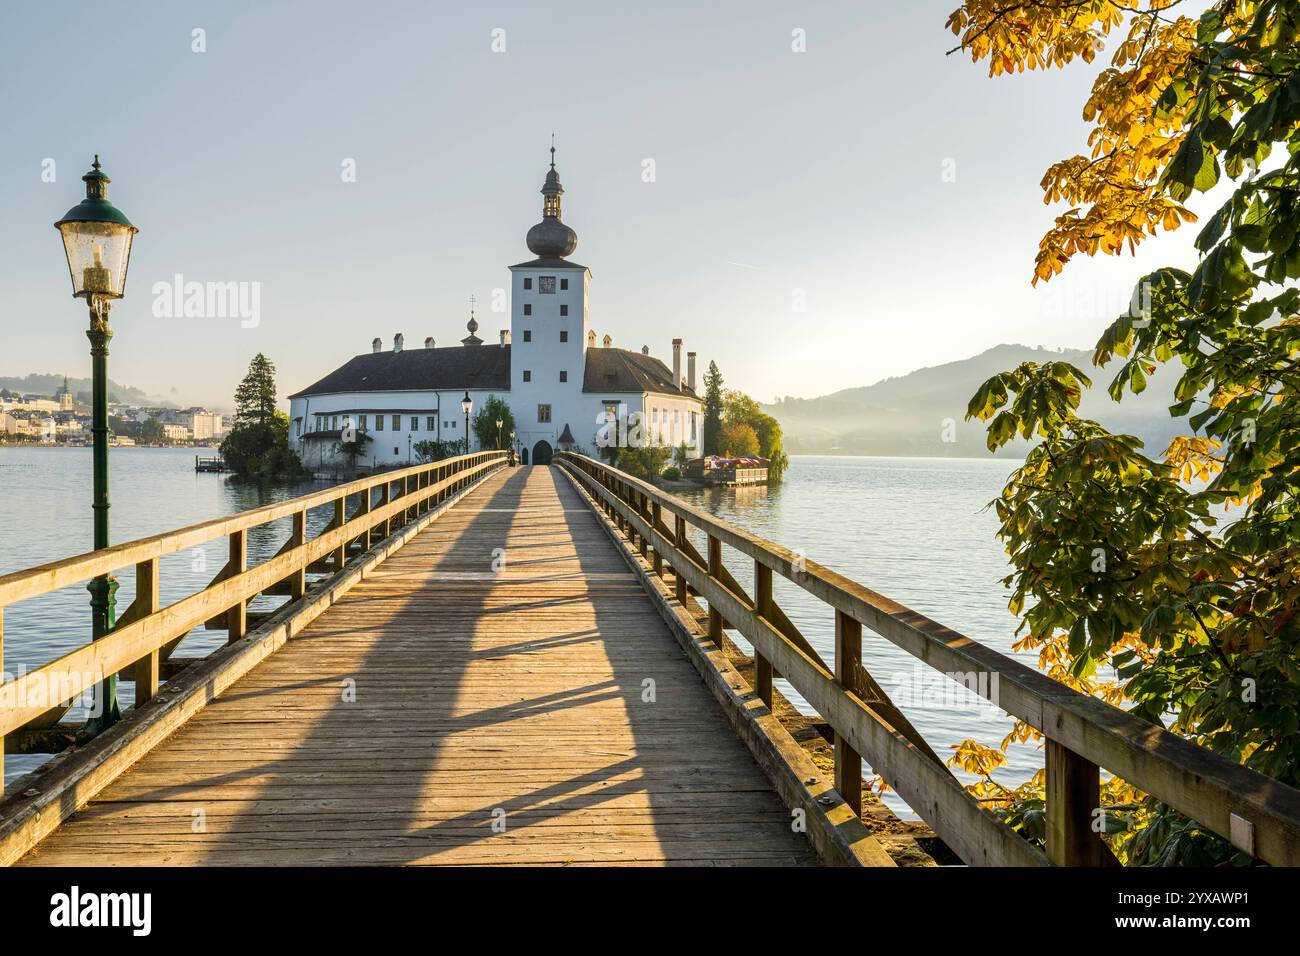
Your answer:
[[[0,770],[6,736],[10,750],[49,752],[39,741],[58,739],[55,731],[66,727],[58,722],[75,698],[113,674],[125,671],[134,676],[136,705],[151,700],[160,680],[177,670],[174,665],[195,659],[169,659],[192,630],[204,626],[225,630],[228,644],[238,641],[250,630],[248,602],[255,597],[302,598],[309,572],[333,575],[343,571],[350,553],[364,553],[372,544],[502,467],[504,460],[503,451],[485,451],[417,464],[0,576],[3,663],[6,606],[121,568],[134,567],[135,571],[135,598],[118,615],[110,633],[34,670],[17,676],[4,675],[0,683]],[[333,518],[315,537],[308,537],[307,512],[324,506],[333,506]],[[248,533],[285,518],[291,519],[291,529],[283,546],[274,557],[250,568]],[[202,591],[164,606],[159,587],[160,559],[221,537],[229,540],[229,561],[216,578]],[[26,744],[21,743],[25,737]]]

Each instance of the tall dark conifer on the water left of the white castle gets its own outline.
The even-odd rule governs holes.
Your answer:
[[[307,475],[289,447],[289,416],[276,408],[276,367],[257,352],[235,389],[235,419],[221,457],[237,480],[291,481]]]

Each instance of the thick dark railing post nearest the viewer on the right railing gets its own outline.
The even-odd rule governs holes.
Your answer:
[[[1104,866],[1113,858],[1093,826],[1101,806],[1101,771],[1052,737],[1046,740],[1048,860],[1057,866]]]

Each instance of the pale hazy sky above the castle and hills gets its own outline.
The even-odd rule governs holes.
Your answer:
[[[956,5],[5,3],[0,375],[88,373],[51,224],[95,152],[140,228],[117,381],[229,406],[264,351],[287,394],[374,336],[459,339],[471,294],[495,341],[552,130],[615,345],[681,337],[763,401],[1088,347],[1140,274],[1192,261],[1193,230],[1031,289],[1037,183],[1082,151],[1096,68],[989,79],[944,56]],[[260,324],[156,317],[177,273],[260,284]]]

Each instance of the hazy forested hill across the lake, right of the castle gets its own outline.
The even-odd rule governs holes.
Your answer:
[[[875,385],[844,389],[822,398],[783,398],[763,410],[781,423],[790,454],[919,455],[978,458],[988,455],[984,423],[966,421],[966,406],[975,390],[997,372],[1022,362],[1070,362],[1092,378],[1080,415],[1115,432],[1136,434],[1148,454],[1160,454],[1186,425],[1169,416],[1174,403],[1176,368],[1161,368],[1140,395],[1117,403],[1106,386],[1119,368],[1092,367],[1092,352],[1079,349],[1052,351],[1023,345],[998,345],[961,362],[919,368]],[[956,441],[945,442],[945,421],[956,421]],[[1000,457],[1023,457],[1028,444],[1017,440]]]

